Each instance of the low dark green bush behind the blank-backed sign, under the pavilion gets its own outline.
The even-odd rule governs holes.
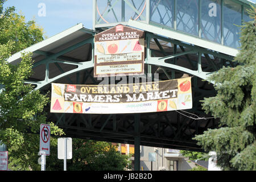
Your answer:
[[[72,139],[72,159],[67,160],[68,171],[123,171],[131,168],[130,156],[121,155],[117,146],[109,142]],[[57,159],[57,143],[47,156],[47,170],[63,171],[63,160]]]

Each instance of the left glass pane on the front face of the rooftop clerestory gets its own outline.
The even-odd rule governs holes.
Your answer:
[[[121,22],[122,1],[119,0],[97,0],[96,24]]]

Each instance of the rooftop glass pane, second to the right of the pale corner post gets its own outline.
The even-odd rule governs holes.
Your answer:
[[[198,36],[198,0],[177,1],[177,30]]]

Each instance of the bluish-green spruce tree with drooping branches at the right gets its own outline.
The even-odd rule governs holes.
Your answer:
[[[251,7],[251,18],[256,17]],[[241,50],[235,68],[222,68],[210,77],[215,97],[204,98],[203,109],[220,118],[219,129],[208,129],[195,139],[205,151],[216,151],[224,170],[255,170],[256,52],[255,20],[241,26]]]

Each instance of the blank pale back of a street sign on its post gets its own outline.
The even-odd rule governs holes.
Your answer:
[[[64,171],[67,171],[67,159],[72,159],[72,138],[58,138],[58,159],[64,159]]]

